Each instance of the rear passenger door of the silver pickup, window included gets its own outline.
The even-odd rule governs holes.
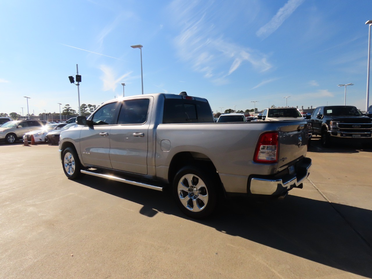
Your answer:
[[[110,130],[110,160],[113,169],[147,174],[151,100],[146,97],[122,101],[117,125],[113,125]]]

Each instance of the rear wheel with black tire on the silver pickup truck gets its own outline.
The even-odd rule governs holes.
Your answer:
[[[185,166],[173,179],[173,196],[183,213],[192,218],[211,215],[217,204],[218,180],[212,170]]]

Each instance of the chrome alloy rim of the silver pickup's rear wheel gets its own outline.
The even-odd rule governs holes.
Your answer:
[[[202,211],[208,203],[208,190],[195,174],[185,174],[177,186],[178,198],[192,212]]]

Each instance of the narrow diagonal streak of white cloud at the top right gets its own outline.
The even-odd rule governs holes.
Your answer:
[[[301,5],[305,0],[288,0],[288,2],[281,7],[273,18],[262,26],[256,35],[261,38],[267,38],[271,33],[276,31],[292,13]]]

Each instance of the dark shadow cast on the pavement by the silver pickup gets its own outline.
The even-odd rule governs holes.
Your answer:
[[[143,205],[140,214],[189,219],[169,192],[158,192],[97,177],[79,181]],[[372,278],[372,211],[288,195],[283,201],[234,199],[208,219],[190,219],[339,270]],[[267,259],[270,261],[270,259]],[[285,261],[285,259],[283,259]]]

